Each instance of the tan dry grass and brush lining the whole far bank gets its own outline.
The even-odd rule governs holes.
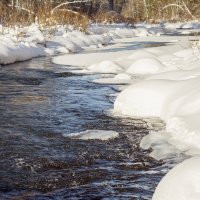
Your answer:
[[[6,6],[3,1],[0,1],[0,24],[7,27],[15,25],[27,26],[35,22],[43,27],[69,24],[82,31],[87,30],[89,17],[82,14],[81,9],[76,12],[73,11],[73,6],[64,6],[65,9],[59,8],[51,12],[56,5],[50,0],[27,2],[28,4],[24,5],[25,9],[19,9]],[[118,1],[116,0],[116,2]],[[146,7],[144,2],[146,2]],[[166,5],[174,2],[174,0],[127,0],[123,4],[120,14],[106,10],[101,10],[95,14],[96,10],[94,8],[91,20],[101,23],[125,22],[131,25],[138,21],[156,23],[160,20],[171,22],[176,22],[180,19],[191,20],[191,16],[188,15],[188,12],[185,12],[185,9],[181,10],[173,6],[163,9]],[[184,2],[192,15],[197,19],[200,18],[200,2],[197,0],[184,0]],[[183,7],[182,4],[180,5]]]

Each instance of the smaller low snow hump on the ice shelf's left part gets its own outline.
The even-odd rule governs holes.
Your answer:
[[[120,66],[113,61],[102,61],[98,64],[93,64],[88,67],[88,70],[98,73],[117,73],[121,70]]]

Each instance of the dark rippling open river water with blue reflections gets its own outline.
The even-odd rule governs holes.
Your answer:
[[[158,162],[139,148],[150,131],[144,120],[106,115],[115,89],[94,78],[49,58],[0,68],[0,199],[151,199],[174,161]],[[88,129],[120,136],[63,137]]]

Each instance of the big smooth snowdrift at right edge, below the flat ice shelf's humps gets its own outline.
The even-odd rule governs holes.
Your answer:
[[[177,72],[175,72],[177,73]],[[200,153],[200,78],[186,80],[144,80],[122,91],[115,103],[118,114],[137,117],[160,117],[166,121],[165,142],[149,140],[156,155],[157,147],[168,145],[187,154]],[[152,135],[151,135],[152,136]],[[155,137],[160,137],[160,134]],[[148,137],[148,136],[147,136]],[[141,147],[144,145],[141,143]],[[169,148],[168,148],[169,149]],[[198,151],[197,151],[198,149]],[[166,153],[169,156],[169,152]],[[162,156],[163,158],[163,156]]]

